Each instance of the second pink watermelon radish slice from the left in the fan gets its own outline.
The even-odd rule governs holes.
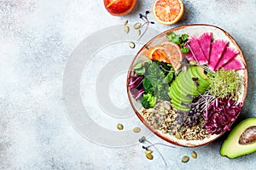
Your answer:
[[[211,40],[212,32],[205,32],[200,37],[198,37],[198,42],[207,60],[209,60],[210,57]]]

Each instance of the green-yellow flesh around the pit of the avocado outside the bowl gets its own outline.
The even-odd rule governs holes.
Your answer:
[[[255,152],[256,141],[249,144],[239,144],[241,133],[243,133],[248,127],[253,126],[256,126],[256,117],[247,118],[236,125],[236,127],[230,132],[228,138],[224,140],[220,149],[220,155],[233,159],[238,156]]]

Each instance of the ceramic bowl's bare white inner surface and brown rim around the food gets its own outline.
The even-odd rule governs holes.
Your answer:
[[[150,126],[148,121],[145,119],[145,117],[142,114],[143,106],[141,105],[140,101],[137,99],[134,99],[131,95],[131,90],[128,87],[128,84],[130,82],[131,75],[133,74],[133,66],[136,65],[138,62],[141,62],[143,60],[147,60],[147,54],[148,54],[148,47],[157,47],[160,46],[161,42],[168,41],[166,34],[168,32],[174,32],[177,35],[182,34],[189,34],[194,35],[196,37],[200,36],[204,32],[212,32],[212,39],[224,39],[229,42],[229,46],[231,48],[236,48],[239,51],[238,57],[241,59],[243,64],[245,65],[245,69],[240,70],[239,74],[241,77],[243,77],[243,84],[240,89],[240,94],[238,96],[238,101],[241,102],[243,105],[246,95],[247,95],[247,64],[244,59],[244,56],[242,54],[241,48],[238,46],[236,41],[233,37],[230,36],[230,34],[227,31],[224,31],[223,29],[217,27],[217,26],[209,26],[209,25],[203,25],[203,24],[196,24],[196,25],[189,25],[189,26],[178,26],[175,28],[172,28],[170,30],[164,31],[160,33],[158,36],[151,39],[149,42],[147,42],[143,48],[141,48],[137,55],[134,57],[134,59],[131,62],[130,70],[128,71],[127,76],[127,93],[128,97],[131,103],[131,106],[133,110],[135,111],[137,117],[143,122],[143,124],[148,127],[149,130],[151,130],[154,134],[160,137],[160,139],[166,140],[169,143],[185,146],[185,147],[197,147],[204,144],[209,144],[215,139],[218,139],[224,132],[218,133],[218,134],[211,134],[210,137],[205,139],[198,139],[198,140],[185,140],[185,139],[177,139],[175,135],[169,134],[169,133],[162,133],[160,130],[154,129],[154,127]]]

